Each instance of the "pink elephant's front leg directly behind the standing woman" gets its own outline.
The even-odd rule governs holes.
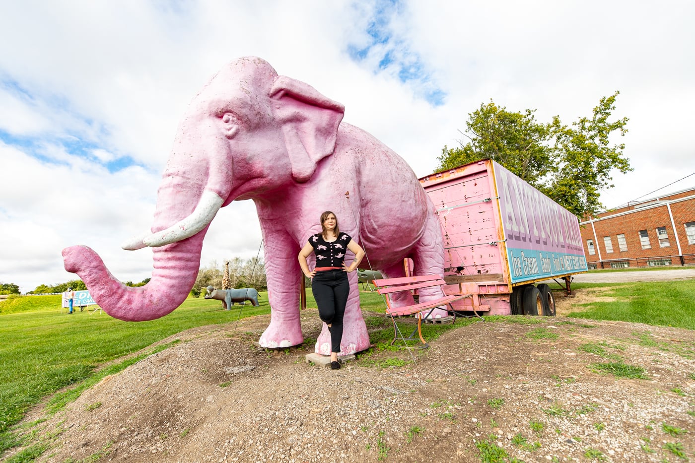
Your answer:
[[[346,262],[347,265],[349,263]],[[369,333],[364,323],[362,309],[359,307],[359,286],[357,285],[357,272],[347,274],[350,282],[350,295],[347,296],[345,314],[343,315],[343,337],[341,339],[341,351],[338,355],[350,355],[369,348]],[[316,353],[331,355],[331,333],[323,323],[321,334],[316,340]]]

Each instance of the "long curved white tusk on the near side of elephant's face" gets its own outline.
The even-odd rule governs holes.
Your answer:
[[[215,214],[222,207],[224,199],[217,193],[204,190],[195,210],[190,216],[179,220],[167,229],[152,234],[146,234],[142,239],[136,237],[124,243],[124,249],[140,249],[140,247],[160,247],[163,245],[176,243],[197,234],[215,218]],[[142,242],[142,246],[140,246]],[[129,247],[125,247],[125,245]]]

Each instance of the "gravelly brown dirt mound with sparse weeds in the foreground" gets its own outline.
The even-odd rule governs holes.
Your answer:
[[[316,311],[302,319],[316,339]],[[659,462],[695,450],[688,330],[514,317],[446,332],[416,363],[383,351],[331,371],[306,364],[309,350],[256,346],[267,325],[163,341],[181,340],[41,423],[58,437],[38,461]],[[596,373],[611,363],[647,379]]]

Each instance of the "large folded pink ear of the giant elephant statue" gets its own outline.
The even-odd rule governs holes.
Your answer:
[[[285,137],[292,177],[307,181],[318,161],[334,152],[345,107],[286,76],[275,79],[269,95]]]

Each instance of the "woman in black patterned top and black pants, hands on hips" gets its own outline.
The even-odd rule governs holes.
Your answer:
[[[309,242],[302,247],[299,255],[300,267],[307,278],[311,278],[311,292],[318,305],[318,316],[328,325],[331,333],[331,369],[341,368],[338,352],[341,351],[343,339],[343,314],[350,282],[347,273],[357,269],[364,257],[362,247],[352,240],[347,233],[341,233],[338,219],[331,211],[321,214],[322,233],[309,237]],[[350,267],[345,266],[345,252],[354,253]],[[309,271],[306,258],[311,252],[316,254],[316,268]]]

